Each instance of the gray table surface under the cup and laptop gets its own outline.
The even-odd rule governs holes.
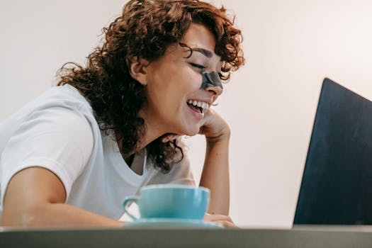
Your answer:
[[[0,247],[372,247],[372,226],[292,229],[9,229]]]

